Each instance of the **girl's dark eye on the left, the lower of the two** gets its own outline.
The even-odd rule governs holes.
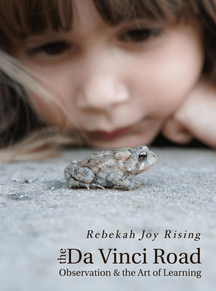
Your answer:
[[[29,51],[29,55],[35,55],[38,53],[43,53],[46,55],[56,55],[71,48],[71,45],[67,42],[52,42],[41,47],[35,47]]]

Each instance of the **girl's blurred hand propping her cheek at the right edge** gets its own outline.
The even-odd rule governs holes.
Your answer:
[[[216,86],[199,82],[166,120],[162,134],[175,143],[187,144],[195,138],[216,148]]]

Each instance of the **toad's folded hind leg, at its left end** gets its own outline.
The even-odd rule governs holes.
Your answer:
[[[94,180],[95,174],[86,167],[80,167],[71,162],[65,168],[65,179],[70,188],[88,188],[89,184]]]

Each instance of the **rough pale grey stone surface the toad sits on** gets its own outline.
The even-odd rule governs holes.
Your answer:
[[[62,158],[39,162],[1,162],[1,290],[215,290],[215,151],[151,150],[158,156],[157,164],[137,176],[142,185],[129,192],[67,187],[63,175],[65,166],[94,152],[92,149],[68,150]],[[93,230],[94,235],[100,233],[100,237],[86,238],[87,230]],[[108,235],[114,233],[114,238],[102,238],[103,230]],[[117,230],[121,238],[115,238]],[[135,237],[123,238],[131,230]],[[139,240],[143,230],[144,238]],[[166,230],[171,231],[170,238],[164,238]],[[182,233],[182,237],[173,238],[175,231],[177,235]],[[152,236],[147,238],[147,233]],[[158,235],[153,241],[154,233]],[[194,237],[188,238],[189,233],[194,233]],[[201,233],[199,240],[194,239],[197,233]],[[113,264],[114,248],[118,264]],[[142,264],[144,248],[147,264]],[[193,264],[189,259],[197,248],[200,248],[201,264]],[[60,249],[79,249],[81,261],[67,264],[67,251],[66,263],[59,264]],[[98,249],[104,249],[105,256],[112,249],[106,264]],[[154,249],[164,250],[166,264],[160,258],[159,264],[154,264]],[[130,256],[130,264],[126,264],[126,255],[123,255],[124,264],[119,264],[119,253],[125,252]],[[85,257],[85,253],[92,254],[93,264],[83,262],[89,256]],[[134,257],[137,262],[142,260],[139,264],[132,262],[134,253],[141,254]],[[168,263],[168,253],[177,255],[176,263]],[[180,253],[187,253],[188,264],[179,263]],[[72,251],[72,262],[78,260],[77,254]],[[197,255],[193,259],[196,262]],[[171,254],[170,262],[173,261]],[[154,276],[153,272],[160,268],[161,276]],[[83,276],[60,276],[60,269],[86,271],[88,276],[85,272]],[[111,276],[95,276],[98,269],[110,271]],[[116,269],[119,276],[114,276]],[[135,271],[134,276],[131,273],[123,276],[125,269]],[[149,270],[150,276],[138,276],[140,269],[143,274]],[[165,274],[169,271],[182,274],[179,271],[189,269],[196,274],[201,271],[201,278],[185,276],[186,273],[163,276],[164,269]],[[94,276],[88,271],[93,271]]]

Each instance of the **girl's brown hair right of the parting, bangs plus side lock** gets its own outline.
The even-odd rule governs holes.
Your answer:
[[[216,2],[214,0],[93,0],[101,17],[110,25],[139,18],[176,21],[191,14],[204,26],[205,63],[203,74],[215,79],[216,74]]]

